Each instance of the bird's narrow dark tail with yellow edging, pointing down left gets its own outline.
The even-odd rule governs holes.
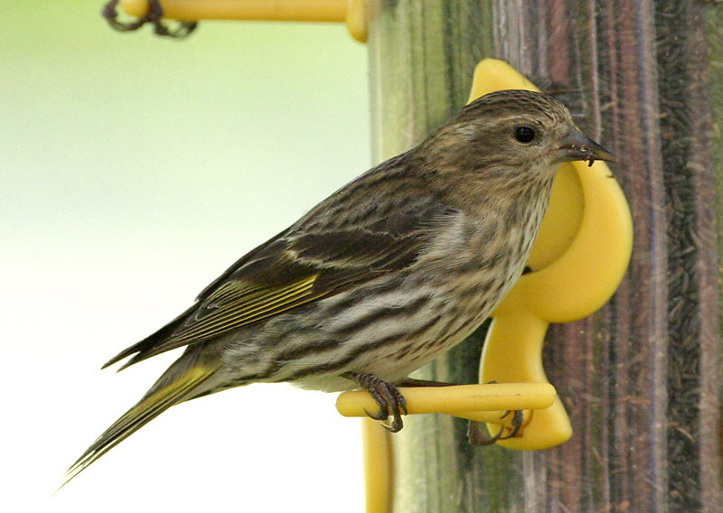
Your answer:
[[[203,387],[203,384],[213,376],[217,369],[218,365],[211,362],[191,362],[183,357],[176,360],[174,365],[168,368],[164,375],[155,382],[155,385],[148,390],[146,396],[108,427],[86,452],[83,452],[78,461],[70,466],[60,488],[68,484],[81,471],[87,469],[100,456],[131,434],[136,433],[171,406],[199,394],[208,393],[208,387]]]

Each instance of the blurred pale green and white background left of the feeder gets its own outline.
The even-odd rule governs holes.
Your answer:
[[[176,354],[100,365],[371,164],[366,50],[342,25],[174,42],[101,6],[0,3],[0,508],[362,511],[358,423],[277,385],[173,408],[51,498]]]

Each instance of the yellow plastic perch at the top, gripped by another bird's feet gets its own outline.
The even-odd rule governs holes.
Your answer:
[[[196,20],[268,20],[284,22],[346,23],[358,42],[367,41],[364,0],[160,0],[164,17],[181,22]],[[143,17],[147,0],[120,0],[129,16]]]

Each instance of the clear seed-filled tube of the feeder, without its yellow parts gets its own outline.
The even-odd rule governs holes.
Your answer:
[[[572,439],[540,452],[472,447],[465,421],[409,418],[394,436],[395,511],[718,511],[723,5],[376,0],[370,8],[377,161],[464,105],[477,61],[503,59],[617,154],[612,168],[634,219],[633,259],[613,300],[548,332],[546,369]],[[419,377],[473,382],[483,338]]]

